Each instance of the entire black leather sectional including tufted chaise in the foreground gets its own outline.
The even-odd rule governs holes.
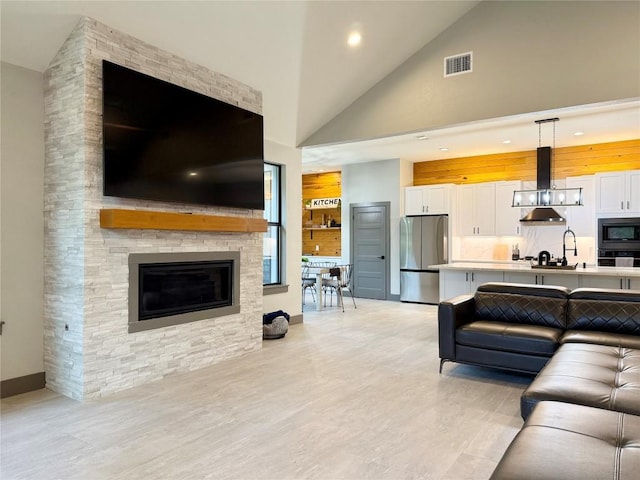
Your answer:
[[[640,291],[484,284],[438,325],[440,371],[537,374],[492,480],[640,478]]]

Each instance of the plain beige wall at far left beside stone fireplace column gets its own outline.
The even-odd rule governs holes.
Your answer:
[[[44,371],[44,113],[41,73],[1,65],[1,379]]]

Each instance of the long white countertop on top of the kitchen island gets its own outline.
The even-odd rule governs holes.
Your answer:
[[[434,270],[492,270],[502,272],[531,272],[544,275],[564,274],[564,275],[605,275],[610,277],[640,277],[640,268],[633,267],[595,267],[587,265],[582,268],[578,265],[575,270],[562,270],[553,268],[531,268],[528,261],[518,262],[453,262],[441,265],[430,265]]]

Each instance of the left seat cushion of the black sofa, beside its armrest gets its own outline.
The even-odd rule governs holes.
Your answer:
[[[559,328],[477,320],[456,330],[456,342],[492,350],[550,356],[558,348],[562,334],[563,330]]]

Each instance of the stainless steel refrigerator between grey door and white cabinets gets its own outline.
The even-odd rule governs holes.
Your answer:
[[[448,262],[447,215],[400,220],[400,301],[437,304],[440,274],[428,268]]]

